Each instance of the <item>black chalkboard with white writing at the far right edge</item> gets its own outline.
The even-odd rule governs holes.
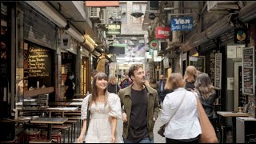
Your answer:
[[[242,50],[242,94],[254,95],[254,46]]]

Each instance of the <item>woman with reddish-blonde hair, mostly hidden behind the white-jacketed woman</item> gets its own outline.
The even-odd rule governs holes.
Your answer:
[[[194,82],[198,77],[198,70],[194,66],[187,66],[184,74],[186,90],[194,90]]]

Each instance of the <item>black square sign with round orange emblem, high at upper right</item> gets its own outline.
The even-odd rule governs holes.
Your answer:
[[[246,44],[248,42],[247,30],[244,28],[234,29],[234,43]]]

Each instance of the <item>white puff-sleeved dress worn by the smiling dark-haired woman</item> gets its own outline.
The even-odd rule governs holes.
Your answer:
[[[86,143],[110,143],[111,141],[111,116],[118,118],[116,130],[116,143],[123,143],[122,140],[122,110],[120,98],[117,94],[108,94],[107,104],[103,102],[93,102],[90,107],[90,123],[85,138]],[[86,119],[87,105],[89,97],[84,98],[81,107],[81,118]]]

